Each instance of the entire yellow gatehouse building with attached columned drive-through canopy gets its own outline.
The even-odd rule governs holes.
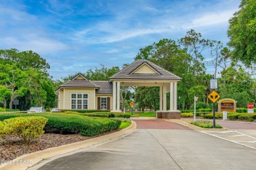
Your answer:
[[[181,77],[146,60],[138,59],[128,65],[109,81],[91,81],[81,73],[60,85],[58,95],[60,110],[120,110],[120,86],[160,87],[160,110],[158,118],[181,118],[177,110],[177,82]],[[167,103],[170,93],[170,103]],[[169,110],[167,110],[169,105]]]

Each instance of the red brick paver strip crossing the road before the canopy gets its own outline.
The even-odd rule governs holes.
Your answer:
[[[134,120],[137,124],[137,129],[182,129],[190,130],[188,127],[181,126],[173,122],[164,120]]]

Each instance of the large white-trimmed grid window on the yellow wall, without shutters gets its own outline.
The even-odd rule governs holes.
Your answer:
[[[88,93],[72,93],[71,109],[88,109]]]

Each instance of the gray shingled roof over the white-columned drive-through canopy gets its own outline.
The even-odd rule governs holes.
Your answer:
[[[138,69],[144,63],[147,63],[157,73],[156,74],[133,73],[133,71]],[[131,63],[131,65],[125,67],[124,69],[116,73],[116,75],[110,77],[110,81],[114,79],[181,80],[182,78],[146,59],[137,59],[136,61]]]

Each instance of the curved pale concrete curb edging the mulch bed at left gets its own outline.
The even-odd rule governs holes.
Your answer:
[[[136,122],[131,120],[131,126],[122,129],[120,131],[116,131],[114,133],[110,133],[108,135],[104,135],[101,137],[96,137],[93,139],[88,139],[86,141],[80,141],[77,143],[65,144],[62,146],[57,146],[54,148],[47,148],[45,150],[40,150],[37,152],[33,152],[31,154],[26,154],[16,158],[15,160],[9,161],[7,164],[0,165],[0,169],[13,169],[13,170],[22,170],[28,169],[33,165],[39,163],[42,160],[46,160],[48,158],[52,158],[54,156],[59,156],[62,154],[66,154],[68,152],[73,152],[75,150],[79,150],[81,148],[85,148],[88,146],[92,146],[94,144],[104,143],[105,141],[109,141],[111,139],[115,139],[117,137],[121,137],[134,129],[136,129]]]

